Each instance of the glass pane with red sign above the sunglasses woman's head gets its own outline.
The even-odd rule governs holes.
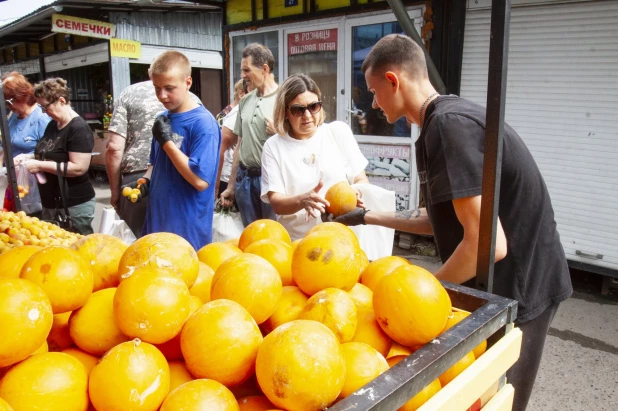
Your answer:
[[[288,75],[304,73],[322,92],[327,122],[337,119],[337,29],[288,34]]]

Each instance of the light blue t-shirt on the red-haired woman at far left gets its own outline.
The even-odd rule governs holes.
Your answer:
[[[11,134],[11,147],[13,148],[13,157],[19,154],[33,153],[36,143],[39,142],[47,123],[51,118],[43,113],[38,105],[34,111],[24,119],[17,118],[17,115],[12,115],[9,119],[9,132]]]

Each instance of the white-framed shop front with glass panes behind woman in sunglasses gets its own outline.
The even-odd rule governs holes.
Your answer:
[[[351,7],[357,2],[298,1],[285,2],[296,3],[286,7],[284,2],[269,1],[264,2],[266,9],[260,4],[253,12],[251,3],[227,2],[224,36],[230,92],[240,79],[243,48],[252,42],[264,44],[275,57],[277,82],[294,73],[312,77],[322,92],[326,121],[344,121],[351,127],[369,160],[369,180],[396,193],[398,210],[417,207],[420,199],[413,142],[418,127],[405,118],[389,124],[380,110],[373,109],[361,72],[365,56],[380,38],[403,33],[388,3],[364,2],[366,7]],[[305,14],[311,8],[313,12]],[[427,6],[417,3],[406,9],[421,33]]]

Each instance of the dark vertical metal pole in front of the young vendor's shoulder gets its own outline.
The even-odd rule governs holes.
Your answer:
[[[481,221],[476,264],[476,288],[487,292],[492,292],[494,280],[510,20],[511,1],[492,0]]]

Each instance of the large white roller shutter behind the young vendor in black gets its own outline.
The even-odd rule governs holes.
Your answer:
[[[485,106],[490,10],[472,3],[461,96]],[[507,79],[567,258],[618,270],[618,1],[513,7]]]

